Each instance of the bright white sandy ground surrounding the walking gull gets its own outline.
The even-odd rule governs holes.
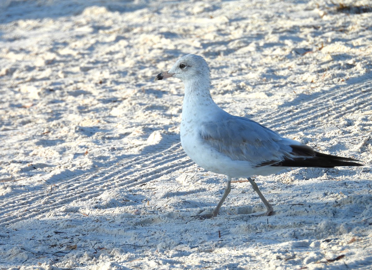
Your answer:
[[[371,269],[371,1],[0,3],[1,269]],[[353,4],[349,9],[348,4]],[[362,6],[357,8],[356,6]],[[183,85],[360,167],[225,188],[180,146]]]

